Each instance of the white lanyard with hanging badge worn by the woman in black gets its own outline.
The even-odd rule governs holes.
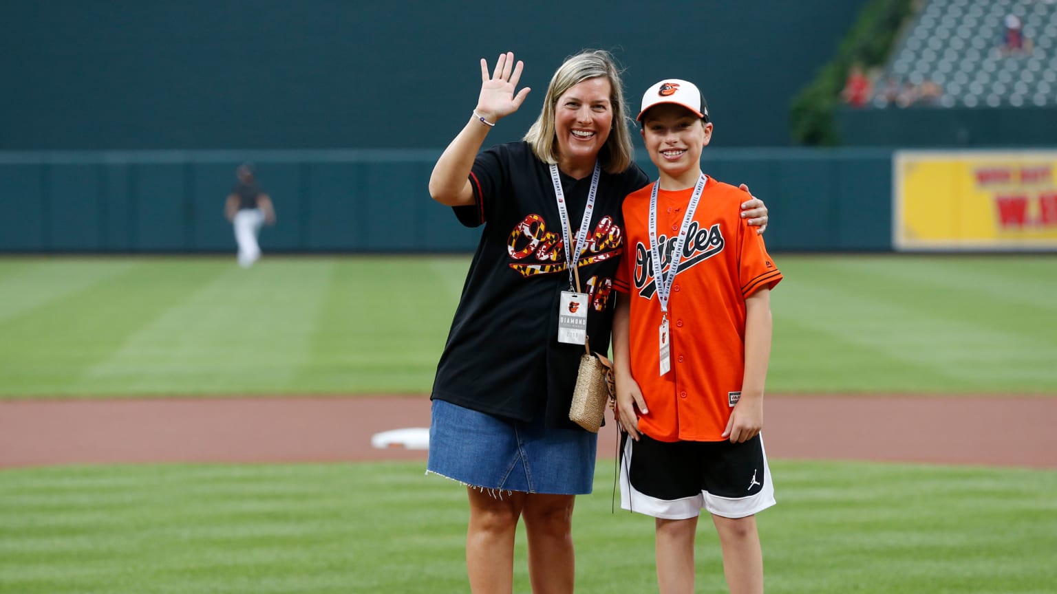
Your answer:
[[[554,183],[554,197],[558,201],[558,216],[561,217],[561,237],[565,244],[565,264],[569,268],[569,291],[561,292],[558,300],[558,341],[570,345],[583,345],[588,336],[588,296],[579,293],[579,283],[573,281],[580,255],[587,248],[588,227],[591,226],[591,212],[594,210],[595,194],[598,192],[598,177],[601,168],[595,161],[594,174],[591,177],[591,189],[588,191],[588,203],[583,207],[583,220],[576,233],[576,243],[570,241],[569,210],[565,208],[565,192],[561,189],[561,178],[558,166],[551,164],[551,181]]]

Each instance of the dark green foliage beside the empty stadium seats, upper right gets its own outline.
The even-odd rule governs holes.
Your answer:
[[[840,135],[834,113],[848,71],[859,62],[866,69],[882,66],[888,58],[903,22],[913,13],[914,0],[873,0],[859,13],[855,24],[840,42],[837,54],[827,62],[790,106],[793,138],[801,145],[835,146]]]

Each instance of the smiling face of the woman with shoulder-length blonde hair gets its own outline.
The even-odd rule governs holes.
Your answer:
[[[558,97],[554,108],[554,133],[558,141],[558,165],[594,167],[598,151],[613,129],[613,106],[609,78],[588,78]],[[573,173],[563,167],[567,173]]]

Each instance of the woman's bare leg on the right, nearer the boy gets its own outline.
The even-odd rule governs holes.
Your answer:
[[[525,496],[522,515],[528,538],[528,578],[533,594],[571,594],[573,591],[575,502],[573,495]]]

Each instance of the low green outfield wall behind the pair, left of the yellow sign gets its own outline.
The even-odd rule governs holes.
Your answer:
[[[267,252],[466,252],[480,233],[430,200],[439,151],[0,152],[0,253],[235,249],[223,204],[243,161],[278,211]],[[643,160],[643,167],[655,169]],[[776,250],[891,249],[891,152],[707,149],[705,170],[746,183]]]

